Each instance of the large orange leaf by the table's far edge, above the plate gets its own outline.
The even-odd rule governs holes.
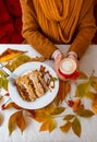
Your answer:
[[[14,49],[10,49],[8,48],[5,51],[3,51],[1,55],[0,55],[0,61],[8,61],[8,60],[11,60],[22,54],[24,54],[26,51],[22,51],[22,50],[14,50]]]

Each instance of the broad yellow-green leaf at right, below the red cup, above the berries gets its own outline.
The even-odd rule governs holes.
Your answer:
[[[87,81],[85,83],[80,83],[76,86],[75,96],[85,97],[88,94],[89,88],[90,88],[90,82],[89,81]]]

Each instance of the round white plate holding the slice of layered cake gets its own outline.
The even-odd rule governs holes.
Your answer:
[[[40,68],[40,66],[46,67],[46,70],[48,70],[52,76],[58,79],[57,73],[52,70],[52,68],[43,62],[24,63],[24,64],[20,66],[17,69],[15,69],[15,71],[13,73],[16,74],[17,76],[20,76],[32,70],[35,70],[35,69],[38,70]],[[59,90],[59,80],[57,80],[54,82],[54,88],[52,88],[51,91],[48,91],[44,96],[37,98],[34,102],[26,102],[26,100],[22,99],[13,81],[11,81],[11,80],[9,81],[9,93],[10,93],[12,100],[15,104],[17,104],[19,106],[26,108],[26,109],[38,109],[38,108],[47,106],[54,99],[54,97],[57,96],[58,90]]]

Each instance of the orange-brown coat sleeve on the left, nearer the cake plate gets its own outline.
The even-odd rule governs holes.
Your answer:
[[[32,45],[39,54],[45,58],[51,58],[57,47],[39,31],[39,25],[36,20],[34,5],[25,2],[26,0],[20,0],[22,7],[22,21],[23,21],[23,37],[28,44]]]

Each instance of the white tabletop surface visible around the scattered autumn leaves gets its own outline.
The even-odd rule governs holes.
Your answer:
[[[57,45],[57,47],[63,50],[64,54],[66,52],[69,46],[70,45]],[[0,54],[7,48],[28,50],[27,55],[32,57],[40,56],[29,45],[1,44]],[[96,61],[97,45],[90,45],[80,61],[80,70],[85,72],[87,75],[90,75],[92,71],[95,70],[95,74],[97,75]],[[53,68],[52,62],[46,61],[46,63]],[[59,128],[54,129],[51,133],[48,131],[39,132],[38,128],[40,123],[36,122],[35,120],[31,121],[31,118],[26,120],[28,126],[24,130],[23,134],[19,128],[16,128],[9,137],[8,120],[13,111],[13,109],[0,110],[4,118],[3,123],[0,127],[0,142],[97,142],[97,115],[88,119],[80,118],[82,123],[81,138],[76,137],[72,130],[70,130],[68,133],[63,133],[59,130]],[[58,118],[57,121],[58,123],[62,123],[60,118]]]

